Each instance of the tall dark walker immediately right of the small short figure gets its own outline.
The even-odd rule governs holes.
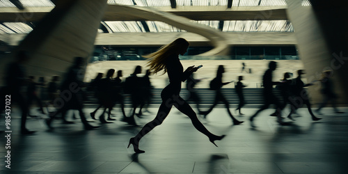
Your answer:
[[[254,125],[253,120],[255,119],[256,116],[258,116],[258,113],[260,113],[264,109],[268,109],[269,105],[271,104],[276,105],[276,116],[278,118],[278,123],[280,125],[286,125],[285,122],[283,122],[283,118],[281,117],[281,111],[284,108],[283,104],[279,102],[278,98],[273,93],[273,86],[280,84],[279,81],[272,81],[272,77],[273,77],[272,72],[276,70],[277,63],[275,61],[270,61],[268,68],[269,69],[266,70],[266,72],[264,72],[264,75],[262,77],[262,83],[264,86],[264,89],[262,91],[262,95],[264,97],[264,105],[258,111],[256,111],[256,113],[253,116],[251,116],[251,118],[249,119],[251,127],[256,127]]]

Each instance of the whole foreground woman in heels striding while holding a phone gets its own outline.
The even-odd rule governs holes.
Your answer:
[[[185,81],[192,72],[198,70],[198,68],[193,68],[193,66],[191,66],[183,72],[184,68],[180,63],[179,54],[184,55],[187,52],[188,47],[189,42],[187,42],[187,40],[177,38],[170,44],[161,47],[157,52],[144,56],[145,58],[150,58],[148,66],[150,66],[152,72],[157,73],[161,70],[164,70],[164,73],[168,72],[170,83],[161,92],[162,103],[161,106],[159,106],[156,118],[148,122],[143,129],[136,134],[136,136],[129,140],[129,145],[133,145],[134,152],[145,152],[139,150],[139,141],[153,128],[161,125],[164,119],[168,116],[168,113],[171,111],[172,106],[175,106],[179,111],[189,116],[193,126],[196,127],[199,132],[205,134],[210,142],[214,143],[216,140],[223,139],[224,135],[216,136],[210,133],[198,120],[196,113],[193,111],[191,106],[189,106],[189,104],[179,95],[182,81]],[[216,144],[214,143],[214,145]]]

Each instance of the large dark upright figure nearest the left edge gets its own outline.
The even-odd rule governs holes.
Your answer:
[[[26,116],[28,116],[29,113],[29,106],[24,99],[24,95],[22,94],[22,88],[25,84],[25,70],[23,67],[23,64],[28,61],[29,55],[25,51],[20,51],[17,54],[17,57],[13,63],[10,63],[6,69],[6,77],[5,82],[6,86],[3,88],[3,91],[1,92],[3,95],[3,98],[8,99],[8,97],[5,97],[6,95],[10,95],[10,102],[17,102],[19,105],[19,108],[22,111],[22,118],[21,118],[21,134],[33,134],[34,131],[29,131],[26,129]],[[5,107],[1,107],[1,112],[6,109]],[[8,113],[8,110],[5,110],[6,113]]]

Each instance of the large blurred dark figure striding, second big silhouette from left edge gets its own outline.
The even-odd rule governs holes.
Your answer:
[[[68,72],[65,74],[65,79],[61,84],[61,97],[60,101],[62,102],[61,108],[58,109],[49,119],[46,120],[46,124],[50,129],[53,129],[51,126],[52,120],[56,117],[58,113],[62,113],[62,118],[65,118],[65,114],[69,109],[77,109],[79,110],[79,115],[81,118],[81,122],[84,125],[84,129],[90,130],[95,129],[97,127],[90,125],[86,117],[84,115],[84,111],[82,111],[84,107],[83,102],[83,91],[82,87],[84,86],[84,82],[82,81],[84,70],[81,66],[84,63],[84,58],[75,57],[73,65],[68,69]],[[58,99],[56,99],[58,101]],[[70,123],[70,122],[66,122]]]

